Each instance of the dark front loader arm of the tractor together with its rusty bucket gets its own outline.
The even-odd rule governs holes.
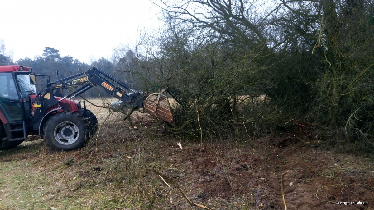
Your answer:
[[[58,103],[64,99],[71,99],[85,93],[94,86],[102,87],[107,93],[125,102],[125,104],[132,109],[144,108],[148,114],[162,119],[171,125],[175,125],[170,104],[164,92],[155,93],[156,95],[141,95],[129,85],[95,67],[92,67],[86,72],[78,73],[47,84],[45,88],[47,91],[44,93],[43,97],[45,98],[45,94],[48,93],[60,96],[62,98],[56,101],[56,103]],[[70,88],[71,91],[66,95],[60,95],[63,93],[62,90],[66,88]],[[56,90],[55,93],[53,93],[54,90]]]

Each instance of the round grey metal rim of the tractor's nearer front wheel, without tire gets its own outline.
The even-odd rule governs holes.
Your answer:
[[[78,126],[72,122],[62,122],[55,128],[55,139],[60,144],[73,144],[79,137]]]

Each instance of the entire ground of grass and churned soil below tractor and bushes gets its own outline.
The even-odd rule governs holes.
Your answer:
[[[200,145],[143,113],[130,128],[123,114],[87,107],[100,129],[82,150],[30,136],[0,151],[0,209],[199,209],[184,196],[211,209],[283,209],[282,185],[288,209],[374,208],[373,160],[306,145],[301,133]],[[337,203],[350,201],[362,203]]]

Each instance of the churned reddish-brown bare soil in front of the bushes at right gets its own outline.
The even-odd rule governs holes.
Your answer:
[[[365,158],[319,151],[300,142],[282,148],[269,145],[266,151],[245,145],[206,145],[203,152],[198,148],[184,149],[188,155],[180,164],[189,167],[190,174],[179,180],[190,186],[196,202],[223,200],[233,208],[283,209],[283,184],[288,209],[374,206],[373,164]]]

